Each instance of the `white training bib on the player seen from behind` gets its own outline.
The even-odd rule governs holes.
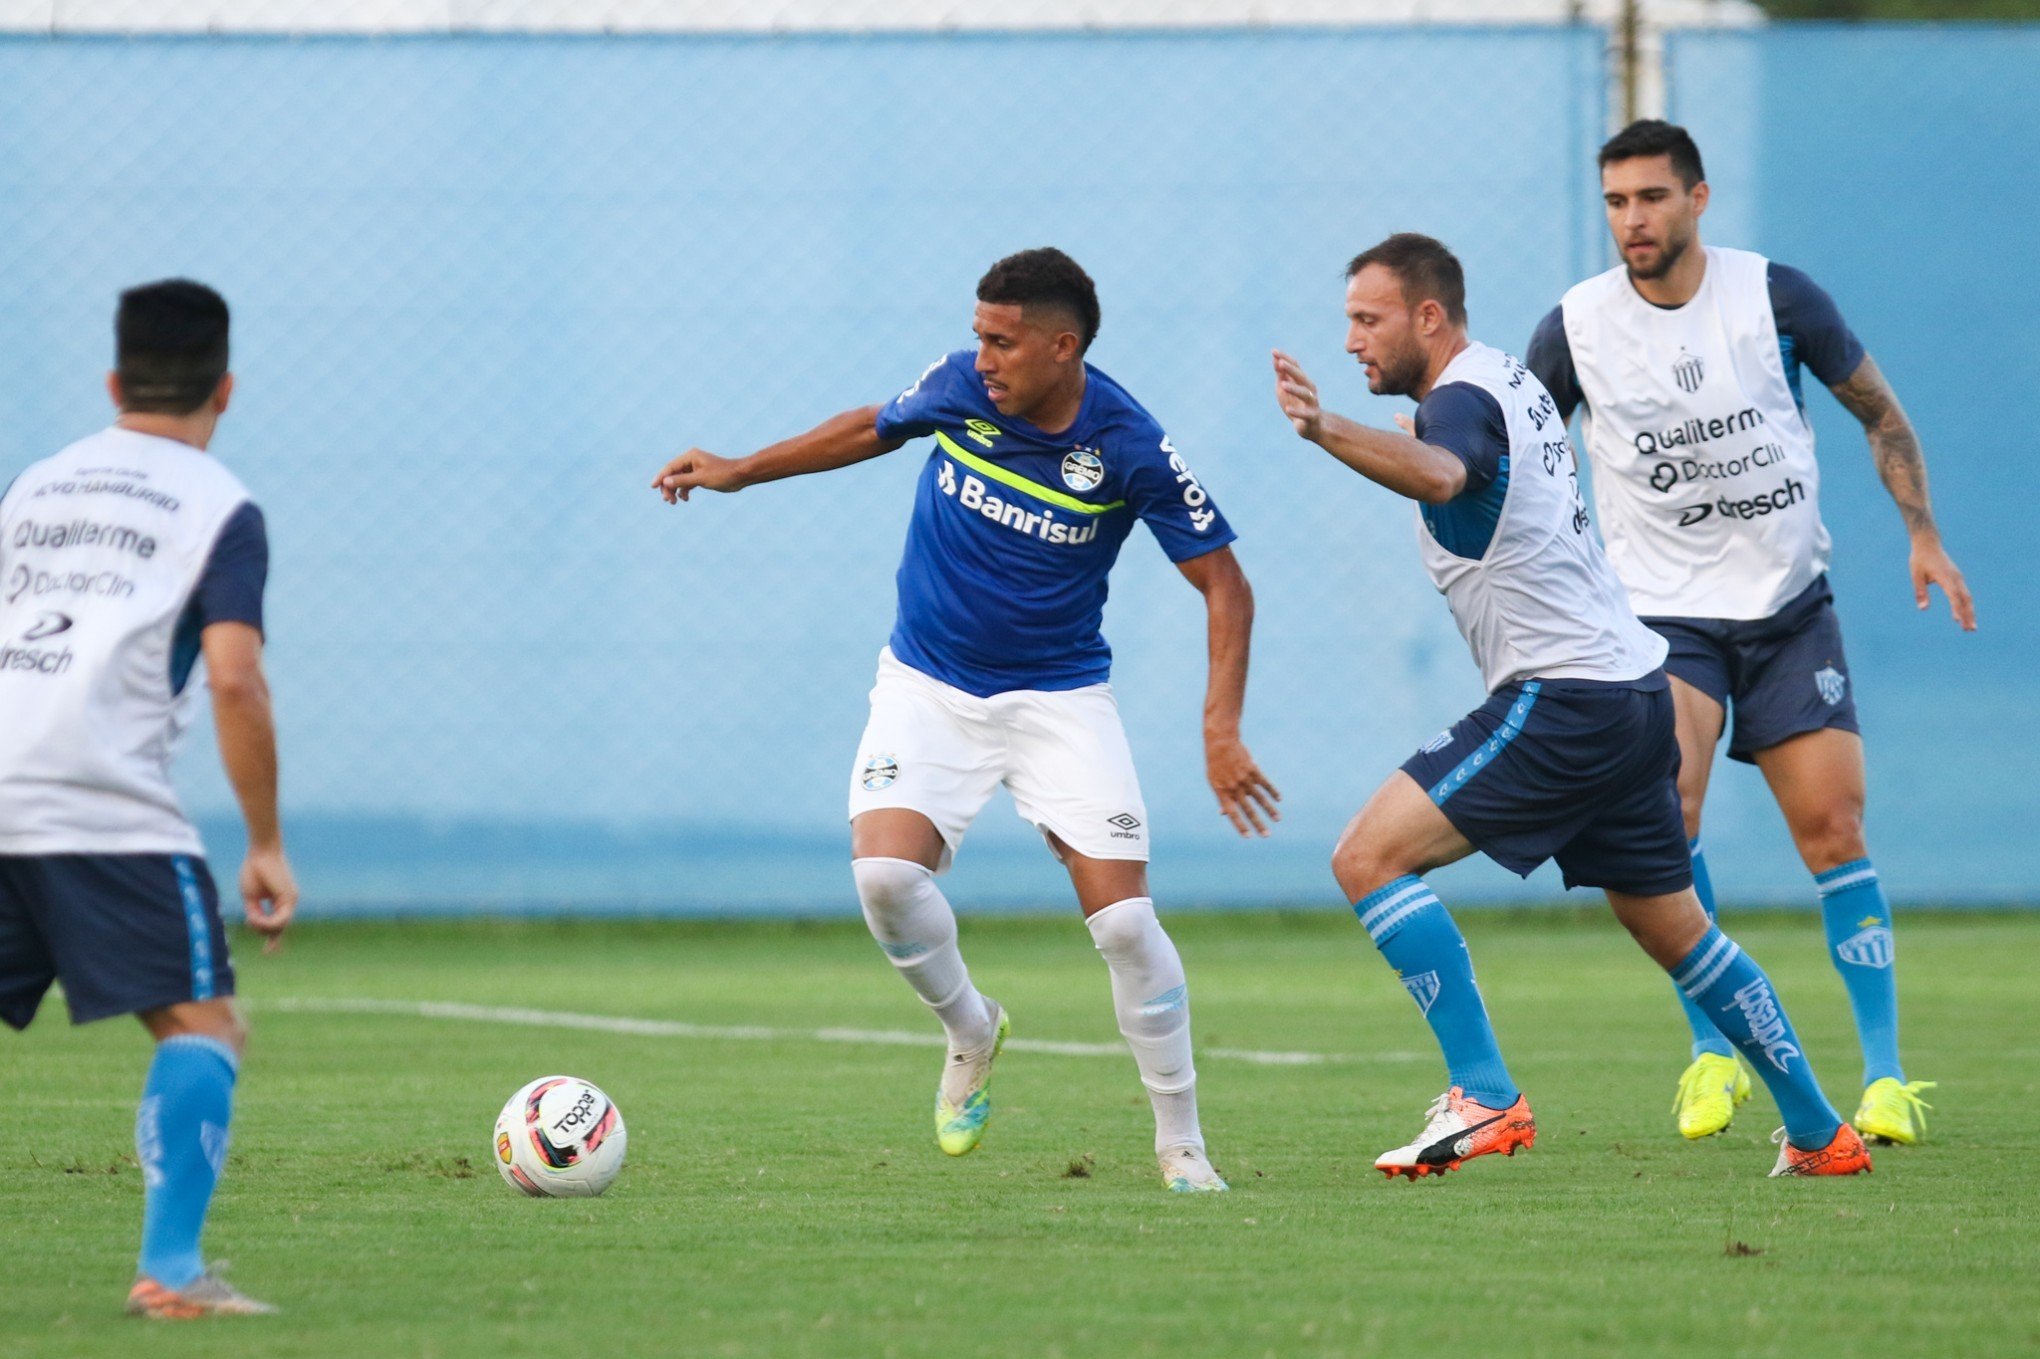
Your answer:
[[[198,449],[118,426],[0,498],[0,855],[202,853],[169,782],[202,677],[173,651],[247,498]]]

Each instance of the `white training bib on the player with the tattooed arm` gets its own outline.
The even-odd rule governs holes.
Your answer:
[[[1814,431],[1771,310],[1771,261],[1707,247],[1679,308],[1626,269],[1565,294],[1593,508],[1636,612],[1769,618],[1828,569]]]

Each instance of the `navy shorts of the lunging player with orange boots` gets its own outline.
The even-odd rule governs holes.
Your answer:
[[[1567,888],[1663,896],[1693,886],[1665,671],[1503,684],[1404,773],[1512,873],[1557,859]]]

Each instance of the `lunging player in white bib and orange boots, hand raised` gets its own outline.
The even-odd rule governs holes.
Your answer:
[[[1326,412],[1316,384],[1279,351],[1275,398],[1304,439],[1418,502],[1424,569],[1489,690],[1389,775],[1332,855],[1361,924],[1438,1037],[1450,1079],[1424,1130],[1375,1167],[1418,1179],[1536,1141],[1467,943],[1420,877],[1479,849],[1516,873],[1557,859],[1569,888],[1608,892],[1644,953],[1722,1016],[1785,1118],[1773,1175],[1869,1169],[1771,981],[1693,892],[1665,641],[1636,620],[1589,531],[1550,394],[1510,355],[1467,339],[1465,275],[1430,237],[1401,233],[1357,255],[1346,320],[1346,351],[1367,367],[1369,390],[1418,400],[1410,433]]]

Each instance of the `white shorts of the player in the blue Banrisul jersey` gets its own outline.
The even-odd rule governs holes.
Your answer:
[[[1020,820],[1079,855],[1146,863],[1146,804],[1110,684],[977,698],[881,651],[851,820],[920,812],[942,833],[947,869],[1000,784]]]

